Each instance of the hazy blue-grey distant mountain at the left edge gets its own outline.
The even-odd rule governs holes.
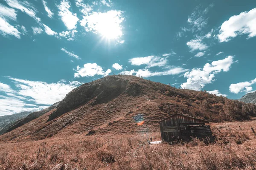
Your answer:
[[[23,119],[32,112],[20,112],[12,115],[0,116],[0,130],[2,130],[9,123],[15,122],[19,119]]]

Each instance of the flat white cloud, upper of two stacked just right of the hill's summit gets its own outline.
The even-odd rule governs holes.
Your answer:
[[[148,57],[136,57],[129,59],[131,65],[147,65],[146,68],[151,67],[163,67],[167,65],[167,57],[158,57],[158,56],[148,56]]]

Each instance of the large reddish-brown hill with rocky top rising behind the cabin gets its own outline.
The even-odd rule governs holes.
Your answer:
[[[249,120],[256,116],[256,105],[135,76],[113,75],[73,89],[56,108],[9,128],[12,131],[0,141],[157,131],[158,122],[173,113],[210,122]]]

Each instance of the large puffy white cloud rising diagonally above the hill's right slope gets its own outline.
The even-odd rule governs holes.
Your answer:
[[[215,81],[214,74],[229,71],[233,63],[233,56],[228,56],[225,59],[213,61],[211,64],[207,63],[204,68],[193,68],[192,71],[185,73],[184,77],[187,78],[187,82],[184,82],[181,88],[200,91],[206,84]]]

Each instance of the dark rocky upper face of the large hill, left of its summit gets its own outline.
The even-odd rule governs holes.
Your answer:
[[[106,103],[122,93],[137,96],[140,94],[140,85],[118,75],[107,76],[93,82],[85,83],[66,95],[60,102],[57,110],[49,116],[48,121],[72,111],[89,101],[91,105]]]

